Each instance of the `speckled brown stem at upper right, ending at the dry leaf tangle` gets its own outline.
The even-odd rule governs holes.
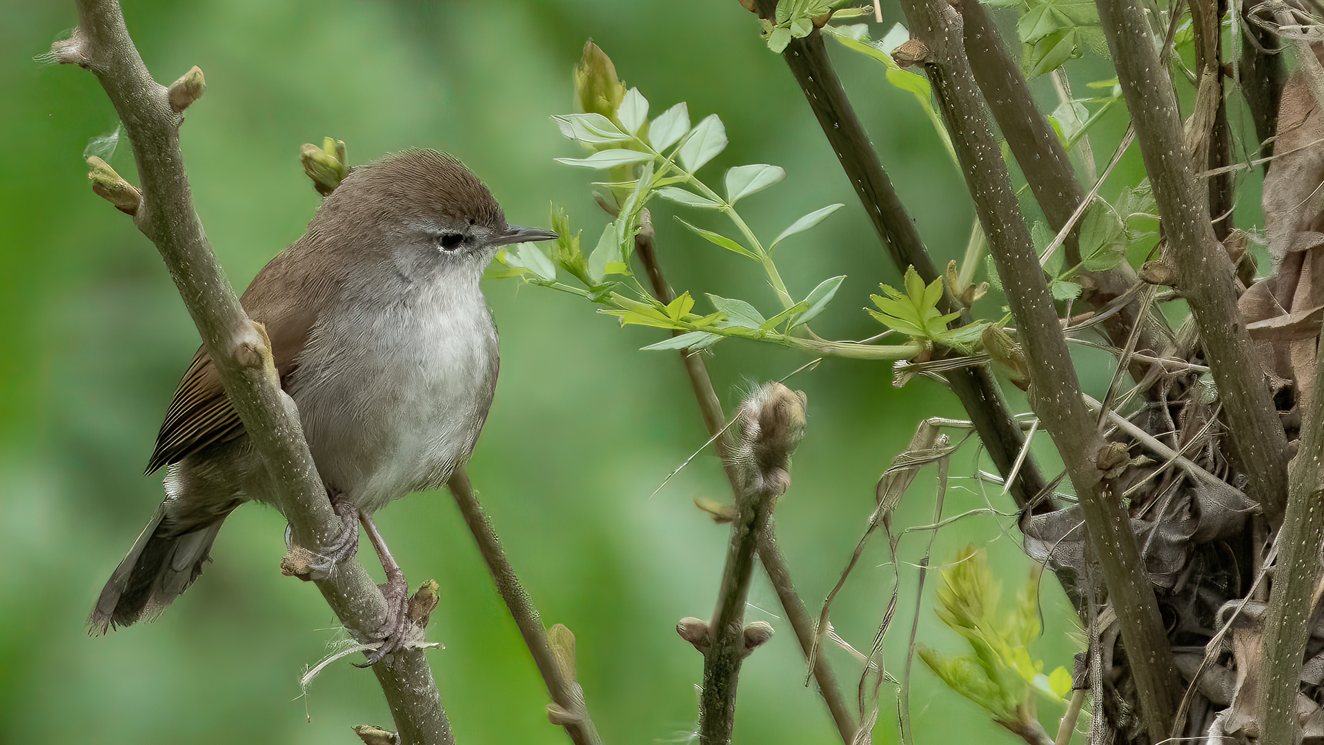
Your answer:
[[[1158,61],[1139,3],[1098,0],[1098,5],[1158,202],[1168,238],[1164,259],[1176,269],[1178,290],[1200,327],[1238,464],[1251,479],[1247,494],[1278,525],[1287,502],[1287,437],[1263,376],[1251,372],[1259,371],[1260,363],[1237,310],[1231,259],[1215,240],[1206,200],[1196,189],[1172,78]]]

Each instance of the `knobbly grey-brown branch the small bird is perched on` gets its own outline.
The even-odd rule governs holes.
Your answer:
[[[134,222],[169,269],[225,393],[270,470],[274,496],[295,543],[311,550],[330,545],[342,521],[326,498],[294,401],[281,390],[266,332],[240,307],[193,209],[179,147],[183,119],[171,106],[169,91],[143,65],[119,3],[78,0],[78,17],[73,37],[57,42],[53,56],[91,70],[115,106],[142,179]],[[176,87],[176,106],[200,95],[200,75],[185,75]],[[340,622],[361,639],[372,638],[387,617],[385,598],[352,557],[316,585]],[[375,664],[373,672],[401,742],[454,742],[422,651],[401,650],[393,658],[389,666]]]

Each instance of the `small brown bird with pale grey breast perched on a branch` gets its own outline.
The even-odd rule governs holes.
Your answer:
[[[410,150],[354,168],[249,285],[244,310],[266,326],[281,386],[346,517],[332,560],[357,545],[356,519],[375,537],[372,512],[446,483],[469,459],[499,364],[478,279],[500,246],[552,238],[507,225],[454,157]],[[102,590],[93,633],[154,618],[197,578],[236,507],[274,503],[205,349],[175,392],[147,472],[162,466],[166,500]]]

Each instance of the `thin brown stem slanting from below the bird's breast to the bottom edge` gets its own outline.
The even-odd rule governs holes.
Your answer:
[[[534,606],[532,598],[519,584],[519,577],[515,576],[515,570],[506,558],[500,539],[496,537],[491,520],[478,502],[478,495],[474,494],[474,486],[469,482],[469,474],[463,466],[455,468],[446,486],[450,487],[450,494],[455,498],[455,504],[459,505],[465,524],[469,525],[474,540],[478,541],[478,550],[483,554],[487,570],[496,582],[496,592],[506,601],[506,607],[510,609],[515,626],[524,636],[534,663],[538,664],[538,672],[547,683],[547,692],[552,697],[548,717],[553,724],[564,726],[565,733],[576,745],[601,745],[602,740],[597,734],[597,728],[593,726],[593,720],[588,716],[584,689],[575,681],[571,663],[559,660],[552,644],[548,643],[547,629],[543,627],[538,607]]]

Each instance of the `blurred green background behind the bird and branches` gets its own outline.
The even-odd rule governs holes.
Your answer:
[[[162,498],[160,474],[140,470],[197,335],[154,247],[87,188],[83,148],[117,126],[95,77],[32,61],[77,24],[73,3],[0,7],[0,741],[351,742],[350,725],[389,724],[373,676],[348,662],[301,700],[298,678],[338,638],[336,625],[311,585],[277,570],[283,520],[273,509],[230,517],[214,564],[155,623],[106,638],[83,631],[102,584]],[[126,12],[159,81],[191,65],[207,74],[183,147],[197,209],[238,287],[316,209],[298,151],[323,135],[346,140],[352,163],[410,146],[453,152],[512,222],[548,225],[555,202],[592,245],[606,221],[587,188],[593,173],[552,161],[579,151],[548,119],[572,110],[571,67],[588,37],[654,114],[679,101],[695,122],[720,114],[731,146],[703,172],[710,181],[745,163],[786,169],[784,184],[743,202],[761,234],[846,204],[779,249],[797,296],[849,275],[816,322],[820,333],[876,333],[861,306],[878,282],[899,281],[789,71],[735,1],[130,1]],[[959,258],[972,209],[931,126],[876,62],[831,52],[935,258]],[[107,160],[135,179],[127,142]],[[666,205],[654,208],[654,221],[675,287],[775,304],[752,262],[685,232]],[[473,480],[544,621],[577,635],[580,681],[604,738],[685,741],[702,660],[674,625],[711,613],[727,543],[727,528],[692,498],[730,494],[706,453],[649,496],[706,439],[679,363],[637,351],[661,331],[622,331],[569,295],[514,279],[486,291],[503,361]],[[710,369],[730,409],[741,390],[806,361],[735,340],[718,347]],[[1092,368],[1086,382],[1102,397],[1110,373]],[[882,470],[919,419],[961,412],[929,381],[892,388],[887,364],[826,360],[790,382],[808,393],[810,419],[777,524],[801,594],[817,610],[866,525]],[[968,479],[973,455],[969,445],[953,463],[960,478],[947,515],[986,504]],[[896,524],[928,523],[933,491],[925,471]],[[1008,498],[990,498],[1012,509]],[[397,502],[379,525],[412,585],[441,584],[429,636],[446,650],[432,662],[459,741],[564,742],[449,495]],[[1030,562],[1008,525],[965,519],[937,535],[933,560],[986,544],[1010,594]],[[904,560],[918,561],[925,543],[927,533],[907,536]],[[884,658],[898,676],[916,576],[903,564]],[[933,615],[935,585],[931,577],[919,639],[963,652]],[[884,543],[875,540],[835,607],[842,636],[869,647],[891,586]],[[1049,670],[1070,668],[1075,627],[1051,577],[1043,589],[1038,654]],[[745,662],[736,740],[837,742],[824,704],[802,685],[801,652],[761,574],[751,605],[748,619],[777,634]],[[857,663],[841,650],[828,654],[854,691]],[[894,696],[884,685],[882,742],[896,738]],[[918,660],[911,701],[920,741],[1017,741]],[[1043,704],[1042,716],[1054,721],[1061,711]]]

